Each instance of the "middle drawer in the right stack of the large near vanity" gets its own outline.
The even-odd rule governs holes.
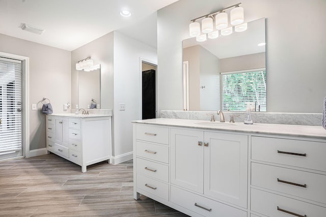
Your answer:
[[[251,184],[326,204],[326,175],[251,164]]]

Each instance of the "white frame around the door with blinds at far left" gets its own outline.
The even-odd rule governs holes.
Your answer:
[[[30,153],[30,58],[26,56],[15,55],[11,53],[0,52],[0,56],[22,60],[22,115],[23,115],[23,132],[22,148],[23,156],[29,158]]]

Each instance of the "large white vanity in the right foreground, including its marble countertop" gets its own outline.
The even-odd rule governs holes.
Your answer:
[[[133,121],[134,199],[191,216],[326,216],[322,127]]]

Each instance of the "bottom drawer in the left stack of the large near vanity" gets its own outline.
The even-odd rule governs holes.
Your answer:
[[[169,200],[169,185],[141,174],[137,174],[137,188],[157,197]]]

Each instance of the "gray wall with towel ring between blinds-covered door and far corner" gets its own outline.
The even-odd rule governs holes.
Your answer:
[[[0,52],[30,57],[30,150],[45,148],[40,101],[46,97],[54,113],[64,113],[62,104],[70,102],[70,51],[0,34]]]

